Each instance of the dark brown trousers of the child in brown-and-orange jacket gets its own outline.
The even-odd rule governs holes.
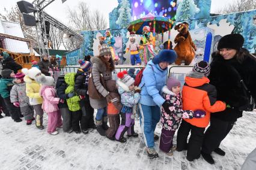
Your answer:
[[[120,115],[119,114],[108,114],[109,128],[106,130],[106,136],[112,138],[120,125]]]

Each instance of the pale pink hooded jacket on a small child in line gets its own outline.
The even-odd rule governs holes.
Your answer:
[[[59,98],[56,98],[56,90],[53,86],[41,86],[39,94],[43,97],[42,109],[46,113],[59,110]]]

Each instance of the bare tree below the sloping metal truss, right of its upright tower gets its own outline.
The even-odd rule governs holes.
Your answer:
[[[62,43],[63,34],[64,33],[61,30],[59,30],[55,26],[50,25],[49,40],[51,42],[50,47],[52,49],[59,49]]]

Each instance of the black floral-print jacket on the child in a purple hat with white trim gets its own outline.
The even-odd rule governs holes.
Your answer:
[[[161,106],[161,118],[160,122],[165,130],[176,130],[180,125],[181,118],[192,119],[192,110],[182,110],[181,94],[176,95],[171,90],[164,86],[162,89],[162,96],[168,103],[169,108],[165,110]]]

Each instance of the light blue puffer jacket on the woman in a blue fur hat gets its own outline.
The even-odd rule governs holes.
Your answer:
[[[146,68],[143,71],[141,79],[141,99],[139,103],[142,105],[159,107],[165,102],[165,99],[160,95],[160,91],[166,84],[167,68],[161,69],[157,64],[154,64],[152,60],[148,62]]]

